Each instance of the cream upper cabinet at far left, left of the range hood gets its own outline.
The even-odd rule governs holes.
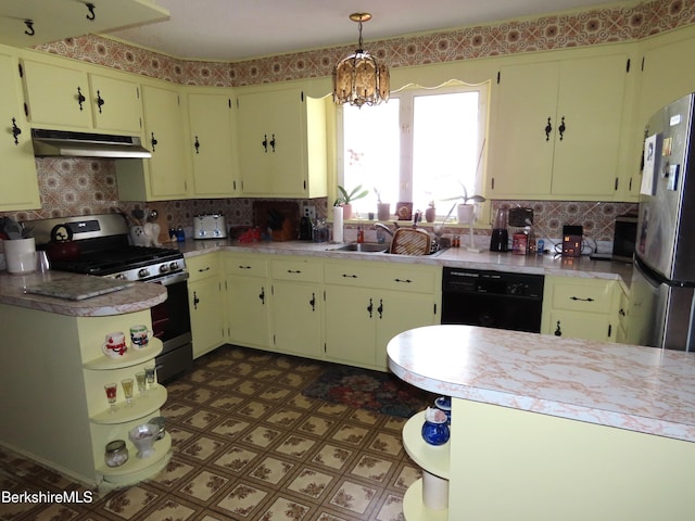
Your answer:
[[[16,58],[0,51],[0,211],[41,207],[20,84]]]

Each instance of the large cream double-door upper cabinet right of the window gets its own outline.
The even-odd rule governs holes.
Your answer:
[[[564,56],[501,69],[491,198],[615,198],[629,55]]]

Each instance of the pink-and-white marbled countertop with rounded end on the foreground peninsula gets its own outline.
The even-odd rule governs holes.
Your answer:
[[[397,377],[433,393],[695,442],[692,353],[429,326],[393,338],[388,355]]]

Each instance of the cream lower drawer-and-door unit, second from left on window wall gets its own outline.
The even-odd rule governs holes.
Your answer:
[[[317,259],[271,262],[273,346],[283,353],[323,358],[323,266]]]

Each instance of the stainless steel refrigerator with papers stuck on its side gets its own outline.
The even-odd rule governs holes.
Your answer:
[[[695,93],[648,122],[628,341],[695,351]]]

